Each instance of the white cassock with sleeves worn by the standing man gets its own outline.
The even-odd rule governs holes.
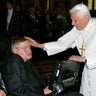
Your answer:
[[[84,42],[83,42],[84,41]],[[86,28],[77,30],[73,27],[71,31],[59,38],[56,42],[45,43],[48,55],[54,55],[68,48],[80,48],[83,45],[83,56],[87,59],[84,65],[80,93],[84,96],[96,96],[96,19],[92,18]]]

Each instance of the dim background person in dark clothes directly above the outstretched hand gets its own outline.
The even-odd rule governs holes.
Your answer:
[[[40,32],[39,32],[39,16],[36,13],[34,6],[30,6],[28,10],[28,14],[25,19],[26,24],[26,33],[25,35],[30,36],[36,40],[40,39]]]

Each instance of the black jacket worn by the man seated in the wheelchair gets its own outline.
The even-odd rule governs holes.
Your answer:
[[[31,60],[24,62],[20,56],[12,54],[3,69],[2,78],[9,96],[44,96],[46,82]]]

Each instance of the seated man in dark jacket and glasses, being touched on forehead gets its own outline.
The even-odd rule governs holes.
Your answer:
[[[32,51],[24,37],[12,39],[12,53],[5,62],[2,79],[8,96],[51,96],[47,83],[31,63]]]

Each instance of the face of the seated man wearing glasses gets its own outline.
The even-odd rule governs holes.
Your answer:
[[[19,43],[19,46],[15,48],[15,54],[21,56],[26,62],[32,58],[32,50],[28,41]]]

